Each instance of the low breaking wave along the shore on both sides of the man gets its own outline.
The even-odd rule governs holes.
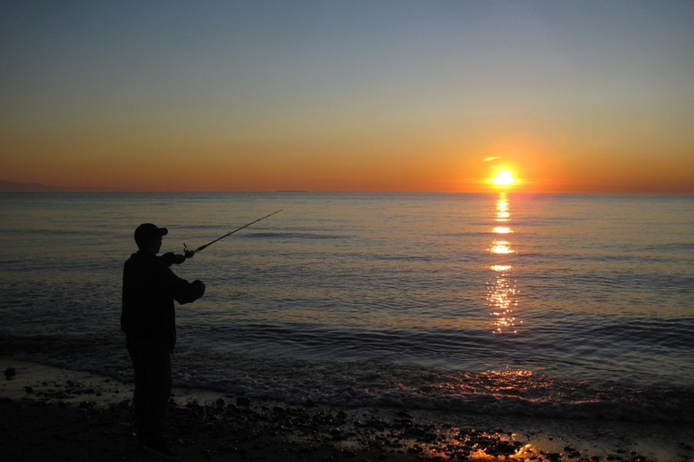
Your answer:
[[[5,339],[6,340],[6,339]],[[16,359],[133,380],[120,342],[42,337],[17,347]],[[8,349],[9,348],[9,349]],[[387,356],[366,361],[288,359],[240,348],[220,352],[183,346],[174,355],[174,385],[291,404],[395,407],[428,411],[520,415],[567,420],[694,421],[694,388],[587,382],[530,370],[455,371]]]

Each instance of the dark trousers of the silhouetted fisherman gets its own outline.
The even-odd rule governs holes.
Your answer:
[[[171,352],[162,342],[126,337],[135,367],[135,414],[141,441],[164,438],[171,396]]]

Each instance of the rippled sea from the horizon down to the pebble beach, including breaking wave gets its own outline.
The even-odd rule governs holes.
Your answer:
[[[133,232],[183,253],[174,384],[284,402],[694,420],[694,197],[0,194],[0,353],[132,380]]]

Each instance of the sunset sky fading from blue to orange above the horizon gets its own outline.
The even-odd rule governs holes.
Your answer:
[[[689,0],[6,0],[0,180],[694,193],[692,24]]]

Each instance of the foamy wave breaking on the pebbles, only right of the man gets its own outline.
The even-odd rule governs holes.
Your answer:
[[[301,374],[301,369],[297,373]],[[586,383],[560,382],[528,371],[424,374],[427,380],[417,384],[395,380],[404,378],[397,374],[384,377],[378,370],[372,371],[369,380],[362,383],[358,379],[362,374],[342,370],[330,380],[326,380],[324,374],[308,374],[302,379],[291,380],[250,374],[230,378],[184,369],[177,374],[176,383],[289,403],[569,420],[694,421],[694,390],[685,387],[642,389],[616,383],[594,387]],[[580,388],[586,390],[579,391]]]

